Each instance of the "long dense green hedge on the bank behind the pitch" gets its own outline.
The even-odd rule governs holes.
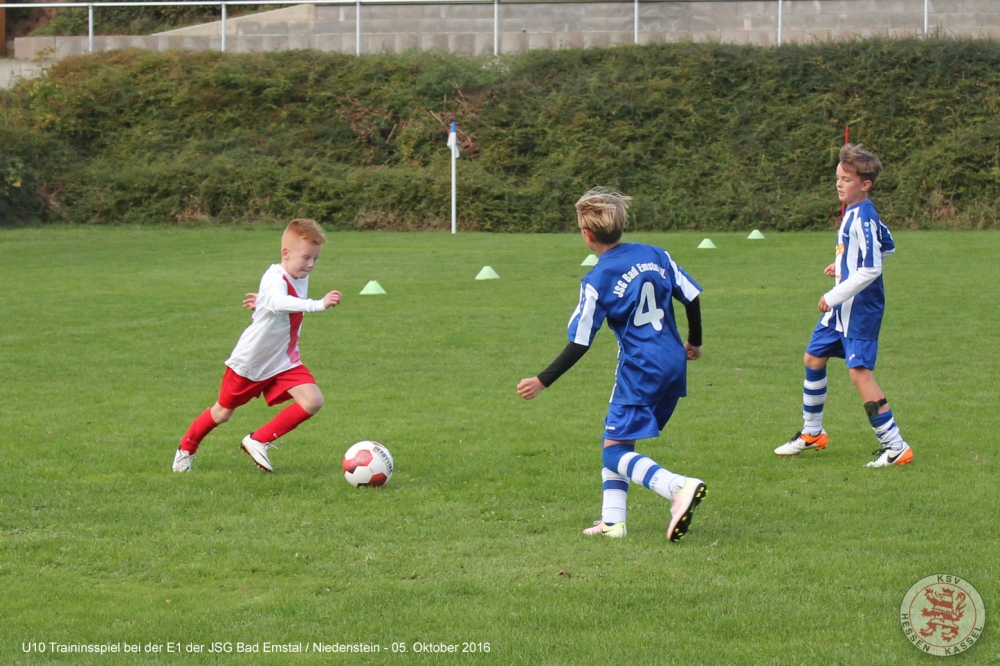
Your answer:
[[[639,229],[826,228],[845,124],[886,165],[892,228],[988,228],[998,111],[993,40],[120,51],[0,95],[0,219],[444,228],[456,120],[466,229],[573,229],[595,185],[635,196]]]

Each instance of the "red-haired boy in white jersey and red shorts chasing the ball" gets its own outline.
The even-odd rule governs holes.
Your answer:
[[[243,438],[241,448],[265,472],[273,471],[267,449],[323,406],[323,394],[299,358],[302,314],[322,312],[340,303],[340,292],[322,300],[308,298],[309,273],[319,259],[326,236],[312,220],[292,220],[281,235],[281,263],[272,264],[256,294],[247,294],[244,307],[254,310],[253,322],[243,331],[226,361],[218,401],[194,420],[174,454],[175,472],[188,472],[201,440],[256,397],[267,404],[295,403]]]

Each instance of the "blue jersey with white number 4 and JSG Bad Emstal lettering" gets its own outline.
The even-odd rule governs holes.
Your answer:
[[[687,304],[700,292],[666,250],[639,243],[611,248],[583,277],[569,339],[589,347],[608,320],[618,338],[613,404],[655,405],[687,395],[687,353],[672,299]]]

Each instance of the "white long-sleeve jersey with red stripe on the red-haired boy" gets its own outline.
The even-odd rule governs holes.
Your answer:
[[[310,300],[308,294],[308,275],[296,280],[280,264],[271,264],[260,279],[253,322],[243,331],[226,365],[255,382],[302,365],[302,313],[326,309],[323,301]]]

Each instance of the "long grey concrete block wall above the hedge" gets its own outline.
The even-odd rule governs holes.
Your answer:
[[[874,35],[923,33],[924,0],[784,0],[782,41],[813,42]],[[776,0],[751,2],[642,2],[639,43],[666,41],[772,45],[778,41]],[[630,2],[504,3],[499,6],[499,50],[613,46],[634,42]],[[284,49],[355,52],[354,5],[298,6],[230,19],[226,50]],[[438,49],[493,52],[492,4],[377,4],[361,7],[361,52]],[[955,37],[1000,38],[1000,0],[931,0],[930,31]],[[94,50],[219,49],[221,23],[144,37],[95,37]],[[15,40],[21,60],[87,52],[86,37]]]

